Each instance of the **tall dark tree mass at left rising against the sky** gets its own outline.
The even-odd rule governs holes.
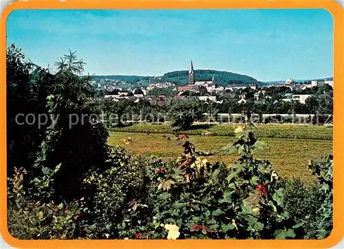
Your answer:
[[[94,97],[92,77],[80,76],[83,61],[75,52],[61,57],[57,72],[25,63],[25,56],[14,45],[8,49],[8,169],[24,166],[28,171],[31,195],[52,195],[56,199],[74,199],[82,191],[82,176],[94,168],[105,167],[109,136],[102,123],[97,122],[96,109],[89,102]],[[45,114],[47,122],[41,127],[15,122],[18,113],[24,116]],[[93,117],[92,117],[93,114]],[[54,121],[52,120],[54,118]],[[50,170],[53,184],[43,184]],[[49,188],[49,189],[48,189]]]

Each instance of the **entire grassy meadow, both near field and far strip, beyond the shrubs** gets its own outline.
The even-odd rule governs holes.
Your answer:
[[[227,131],[224,130],[225,126],[230,126],[227,127]],[[133,125],[131,127],[121,128],[127,132],[111,131],[108,142],[110,145],[125,147],[129,152],[136,155],[156,155],[159,158],[175,160],[178,155],[183,153],[182,147],[175,140],[173,134],[168,133],[168,126],[153,125],[153,127],[155,129],[152,129],[152,125]],[[129,132],[135,129],[136,132]],[[230,133],[232,132],[231,129],[234,129],[231,125],[216,125],[207,131],[216,131],[219,134],[220,132]],[[138,132],[138,130],[155,131],[155,133],[147,134]],[[212,154],[202,156],[202,158],[206,158],[210,162],[224,162],[227,165],[230,165],[230,163],[236,160],[238,155],[226,155],[222,150],[228,143],[234,142],[235,137],[192,135],[201,131],[201,129],[194,129],[186,133],[190,136],[191,142],[195,144],[198,151],[210,152]],[[307,169],[308,161],[321,155],[332,154],[332,140],[320,139],[321,137],[330,138],[332,136],[332,129],[328,127],[282,127],[266,125],[258,127],[258,131],[261,140],[265,142],[265,146],[264,149],[257,151],[255,158],[270,160],[273,169],[283,177],[299,177],[302,180],[310,182],[315,178]],[[275,136],[282,136],[282,138],[268,137],[273,134]],[[287,138],[283,138],[283,136]],[[299,138],[288,138],[288,136],[297,136]],[[127,138],[131,138],[132,142],[128,142]]]

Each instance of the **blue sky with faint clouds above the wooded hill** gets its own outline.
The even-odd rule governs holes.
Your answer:
[[[8,45],[53,65],[68,50],[89,74],[218,69],[257,80],[333,76],[327,10],[15,10]]]

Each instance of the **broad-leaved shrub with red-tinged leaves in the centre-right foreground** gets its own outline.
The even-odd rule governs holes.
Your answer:
[[[182,135],[185,155],[180,170],[158,177],[153,212],[160,224],[174,224],[180,239],[285,239],[296,237],[302,224],[290,219],[285,190],[268,161],[252,158],[259,142],[250,131],[237,133],[230,152],[241,158],[230,167],[195,156]],[[226,148],[226,149],[229,149]],[[298,232],[298,236],[302,234]]]

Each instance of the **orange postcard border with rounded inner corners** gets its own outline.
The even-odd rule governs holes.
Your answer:
[[[6,186],[6,20],[20,9],[294,9],[323,8],[334,18],[334,229],[320,240],[19,240],[7,228]],[[15,248],[330,248],[343,239],[344,199],[344,15],[334,0],[28,0],[10,3],[1,15],[0,162],[1,235]],[[343,111],[342,111],[343,114]],[[342,125],[341,125],[342,124]],[[342,152],[342,153],[341,153]]]

